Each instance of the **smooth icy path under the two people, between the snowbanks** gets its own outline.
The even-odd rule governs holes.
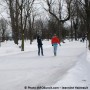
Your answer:
[[[85,44],[81,42],[59,46],[56,57],[51,46],[44,48],[44,56],[40,57],[37,56],[37,50],[0,56],[0,90],[55,85],[80,59],[86,59]]]

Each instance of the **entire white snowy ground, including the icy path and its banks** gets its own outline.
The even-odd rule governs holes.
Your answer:
[[[36,41],[25,41],[25,51],[19,46],[1,43],[0,90],[90,90],[86,43],[61,43],[57,56],[50,41],[43,41],[44,56],[37,55]]]

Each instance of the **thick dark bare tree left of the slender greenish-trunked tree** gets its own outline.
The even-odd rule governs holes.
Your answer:
[[[9,7],[10,18],[11,18],[11,27],[12,27],[12,36],[15,44],[18,44],[18,35],[19,35],[19,1],[18,0],[5,0]]]

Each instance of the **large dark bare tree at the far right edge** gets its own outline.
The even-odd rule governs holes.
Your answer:
[[[90,49],[90,0],[74,0],[74,2],[77,1],[76,4],[76,10],[78,10],[78,19],[80,19],[81,24],[83,24],[82,22],[84,22],[84,25],[86,27],[87,30],[84,30],[81,32],[83,32],[83,34],[87,34],[87,38],[89,41],[89,49]],[[74,7],[74,8],[75,8]],[[75,11],[73,9],[73,11]],[[84,28],[85,29],[85,28]]]

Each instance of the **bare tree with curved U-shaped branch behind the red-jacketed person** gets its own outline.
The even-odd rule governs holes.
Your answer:
[[[48,9],[45,8],[45,10],[48,11],[49,14],[52,15],[58,22],[59,37],[62,38],[63,24],[64,22],[70,19],[70,6],[71,6],[72,0],[44,0],[44,1],[47,3],[47,6],[48,6]],[[67,14],[62,12],[64,3],[66,5]]]

